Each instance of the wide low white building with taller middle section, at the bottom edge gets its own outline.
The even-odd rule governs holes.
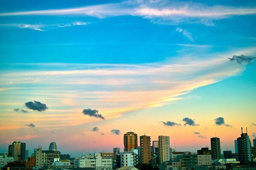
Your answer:
[[[102,170],[103,168],[112,169],[112,159],[102,159],[100,153],[94,153],[92,156],[76,159],[77,167],[94,167],[96,170]]]

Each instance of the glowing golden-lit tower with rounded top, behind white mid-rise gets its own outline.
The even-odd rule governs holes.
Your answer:
[[[138,147],[138,136],[134,132],[127,132],[124,134],[125,152],[131,151]]]

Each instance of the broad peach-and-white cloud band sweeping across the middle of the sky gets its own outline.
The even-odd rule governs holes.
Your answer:
[[[12,87],[22,87],[23,91],[18,93],[15,89],[9,89],[15,97],[22,97],[20,101],[27,100],[30,96],[26,97],[26,94],[29,93],[42,96],[44,102],[58,107],[67,107],[62,102],[65,98],[76,103],[77,109],[70,108],[71,106],[62,110],[51,108],[47,111],[51,113],[50,115],[32,115],[35,117],[30,120],[31,122],[46,121],[51,116],[60,127],[82,125],[99,121],[102,115],[104,119],[113,119],[127,112],[166,105],[182,99],[182,95],[196,88],[239,74],[244,71],[246,64],[239,65],[230,62],[227,58],[242,53],[255,54],[256,49],[212,54],[207,58],[178,57],[164,62],[145,64],[17,64],[27,67],[33,65],[33,69],[3,72],[0,74],[0,84],[8,87],[9,82],[12,81]],[[36,67],[41,69],[34,70]],[[40,79],[34,83],[37,88],[24,88],[23,81],[26,82],[26,77]],[[58,88],[48,88],[53,85]],[[12,103],[9,98],[2,97],[6,103]],[[17,107],[10,104],[8,106]],[[97,110],[81,110],[85,106]],[[184,123],[197,125],[190,118],[184,119]]]

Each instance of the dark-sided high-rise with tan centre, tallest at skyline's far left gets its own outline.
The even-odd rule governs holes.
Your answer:
[[[14,161],[23,161],[26,159],[26,143],[15,141],[8,148],[9,157],[13,157]]]

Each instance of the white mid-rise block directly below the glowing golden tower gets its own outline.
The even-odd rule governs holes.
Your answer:
[[[119,153],[121,167],[134,167],[139,163],[138,150],[132,149],[129,152]]]

